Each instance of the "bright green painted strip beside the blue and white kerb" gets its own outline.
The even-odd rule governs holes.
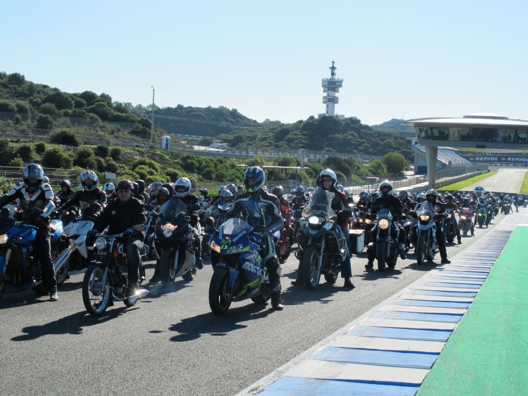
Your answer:
[[[517,226],[417,396],[528,389],[528,226]]]

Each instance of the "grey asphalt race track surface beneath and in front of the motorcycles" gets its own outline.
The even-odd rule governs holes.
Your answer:
[[[448,256],[466,249],[504,217],[497,216],[489,229],[476,229],[475,237],[463,237],[459,246],[448,244]],[[133,308],[116,303],[100,318],[84,309],[83,274],[65,282],[56,303],[32,290],[6,294],[0,300],[2,393],[235,394],[433,266],[416,265],[414,254],[384,273],[365,271],[365,263],[365,250],[360,257],[354,254],[352,290],[343,288],[340,278],[336,285],[322,279],[317,290],[308,291],[290,285],[297,268],[292,254],[282,270],[282,312],[246,300],[233,303],[222,317],[213,315],[211,266],[192,282],[177,281],[171,290],[154,286]],[[147,279],[153,270],[149,262]]]

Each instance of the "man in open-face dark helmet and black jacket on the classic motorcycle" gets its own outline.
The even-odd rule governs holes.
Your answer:
[[[108,227],[108,235],[124,232],[125,251],[128,264],[128,285],[125,297],[134,296],[139,281],[139,251],[143,247],[143,233],[135,231],[134,225],[145,224],[147,215],[145,204],[134,198],[134,185],[130,180],[120,180],[116,184],[117,199],[110,200],[106,208],[95,220],[89,235],[99,233]]]

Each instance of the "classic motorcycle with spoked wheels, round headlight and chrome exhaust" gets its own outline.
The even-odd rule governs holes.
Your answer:
[[[134,226],[135,231],[143,231],[144,224]],[[127,307],[136,305],[137,300],[148,294],[146,289],[138,289],[136,294],[125,297],[128,284],[128,265],[125,252],[124,233],[116,235],[96,234],[97,259],[92,261],[82,281],[82,301],[88,313],[100,316],[105,313],[110,301],[123,301]],[[139,284],[145,280],[143,260],[147,256],[144,245],[140,251]]]

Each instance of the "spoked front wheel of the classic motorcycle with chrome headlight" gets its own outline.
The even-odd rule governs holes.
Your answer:
[[[105,313],[111,298],[110,274],[107,274],[103,284],[104,273],[105,266],[92,264],[88,267],[82,281],[82,301],[86,310],[93,316],[100,316]]]

